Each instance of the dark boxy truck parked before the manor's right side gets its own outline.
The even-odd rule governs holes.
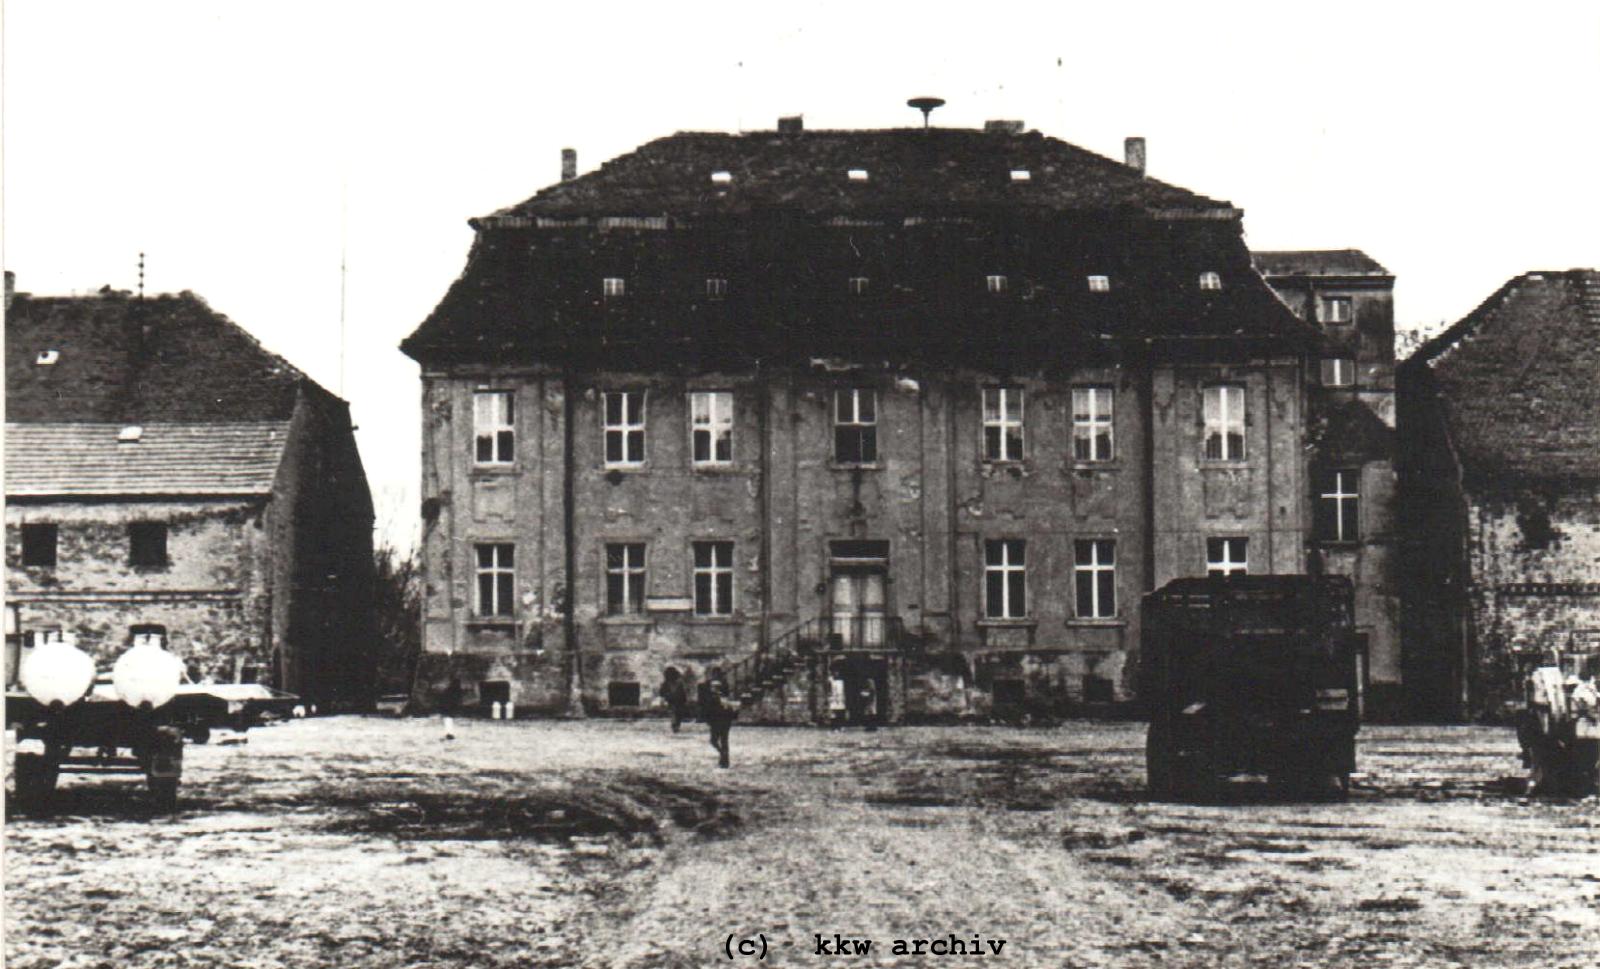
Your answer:
[[[1144,596],[1150,795],[1211,796],[1232,774],[1349,793],[1360,721],[1354,595],[1344,576],[1213,576]]]

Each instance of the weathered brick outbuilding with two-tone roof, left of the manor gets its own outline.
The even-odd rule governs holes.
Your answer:
[[[358,704],[373,507],[347,405],[200,297],[6,299],[6,670],[75,635]]]

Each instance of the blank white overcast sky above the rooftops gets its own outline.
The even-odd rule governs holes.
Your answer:
[[[382,534],[418,508],[395,345],[466,219],[678,130],[1029,128],[1362,248],[1402,325],[1600,265],[1600,3],[331,3],[5,0],[3,243],[40,294],[192,289],[339,390]]]

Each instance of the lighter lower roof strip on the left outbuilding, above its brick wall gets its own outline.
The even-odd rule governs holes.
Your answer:
[[[8,424],[8,497],[254,496],[272,491],[286,421],[146,424]]]

